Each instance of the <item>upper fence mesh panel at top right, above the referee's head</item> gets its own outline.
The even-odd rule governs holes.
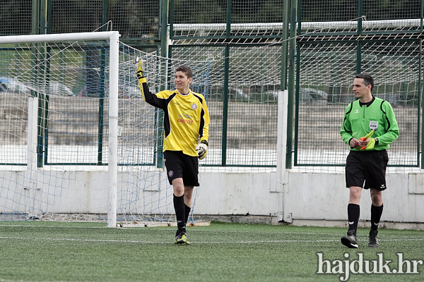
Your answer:
[[[420,32],[423,1],[300,1],[303,35]]]

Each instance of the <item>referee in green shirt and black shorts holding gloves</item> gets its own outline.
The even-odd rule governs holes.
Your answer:
[[[370,190],[371,230],[368,247],[378,247],[377,228],[383,212],[382,191],[386,190],[389,144],[399,137],[399,126],[389,102],[371,94],[374,80],[360,73],[353,80],[355,102],[346,107],[341,138],[351,147],[346,159],[346,187],[350,190],[348,234],[341,238],[347,247],[357,248],[356,229],[360,216],[360,195]],[[365,139],[365,136],[372,135]]]

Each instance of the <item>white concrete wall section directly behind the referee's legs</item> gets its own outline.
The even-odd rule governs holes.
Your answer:
[[[293,219],[347,220],[349,190],[343,173],[290,173],[288,210]],[[382,221],[424,223],[424,174],[387,174]],[[370,192],[363,190],[360,219],[370,220]]]

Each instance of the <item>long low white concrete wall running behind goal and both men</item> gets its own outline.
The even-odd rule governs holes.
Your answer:
[[[143,172],[143,178],[134,174],[119,173],[118,200],[143,193],[147,201],[172,203],[172,189],[166,183],[165,173]],[[107,172],[44,171],[26,181],[25,171],[0,171],[0,207],[28,212],[30,199],[42,210],[64,213],[107,213]],[[134,178],[134,179],[129,179]],[[146,180],[140,180],[146,179]],[[159,183],[142,192],[142,181]],[[45,184],[43,184],[45,183]],[[288,173],[285,189],[276,188],[276,173],[225,173],[203,172],[201,186],[196,188],[195,215],[257,216],[271,218],[276,223],[284,210],[291,214],[293,224],[344,226],[347,221],[349,191],[345,188],[343,173]],[[382,221],[393,223],[389,227],[409,224],[424,226],[424,173],[388,173],[387,190],[383,192]],[[30,188],[30,189],[26,189]],[[39,196],[34,191],[42,190]],[[167,190],[160,198],[157,190]],[[281,191],[281,192],[277,192]],[[285,191],[285,192],[283,192]],[[31,194],[33,193],[33,194]],[[283,195],[286,199],[283,201]],[[13,199],[10,199],[12,196]],[[146,201],[146,200],[145,200]],[[136,203],[143,207],[147,202]],[[48,207],[47,207],[48,205]],[[157,206],[161,206],[158,204]],[[370,194],[363,190],[361,220],[370,219]],[[131,208],[134,208],[134,203]],[[157,212],[160,212],[158,210]],[[242,220],[242,219],[240,219]],[[399,223],[405,223],[399,225]],[[364,223],[365,224],[365,223]],[[366,225],[366,224],[365,224]],[[414,227],[416,228],[416,227]]]

